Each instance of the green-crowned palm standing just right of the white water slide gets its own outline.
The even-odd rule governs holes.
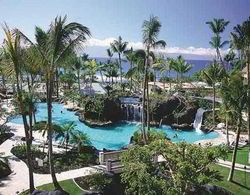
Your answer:
[[[202,71],[201,77],[213,88],[213,125],[215,126],[215,97],[216,83],[221,81],[224,75],[224,69],[215,61],[208,68]]]

